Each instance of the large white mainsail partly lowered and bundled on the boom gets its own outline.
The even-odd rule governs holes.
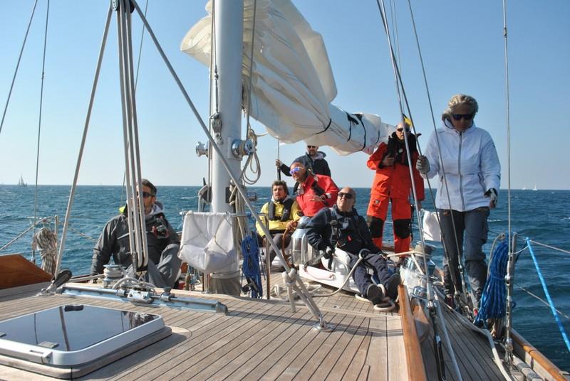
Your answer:
[[[180,50],[204,65],[211,54],[212,2],[192,26]],[[254,0],[244,0],[242,75],[249,87]],[[321,34],[313,31],[290,0],[257,0],[250,115],[285,143],[304,140],[341,155],[372,153],[394,127],[375,114],[348,113],[331,102],[336,83]],[[248,90],[246,88],[246,90]],[[243,100],[247,109],[247,99]]]

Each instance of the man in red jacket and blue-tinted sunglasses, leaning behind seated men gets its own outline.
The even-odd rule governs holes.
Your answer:
[[[333,179],[307,171],[303,163],[291,164],[291,176],[299,183],[297,203],[303,214],[313,217],[322,208],[331,208],[336,203],[338,187]]]

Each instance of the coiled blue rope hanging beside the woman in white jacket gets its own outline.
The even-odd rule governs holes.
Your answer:
[[[489,278],[481,296],[481,307],[475,317],[475,323],[482,323],[490,318],[502,318],[506,311],[506,291],[504,277],[507,274],[509,262],[509,245],[503,240],[494,249],[489,266]]]

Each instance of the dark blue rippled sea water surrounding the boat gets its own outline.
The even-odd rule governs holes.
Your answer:
[[[198,187],[161,186],[158,200],[165,205],[165,213],[173,227],[181,229],[180,210],[197,209]],[[257,208],[270,197],[269,188],[250,188],[257,191]],[[356,208],[366,215],[369,188],[358,188]],[[69,186],[38,186],[38,218],[58,215],[63,222],[68,204]],[[29,227],[33,220],[34,188],[32,186],[0,186],[0,247],[13,240]],[[570,250],[570,191],[512,191],[511,227],[519,234],[517,247],[524,247],[524,237],[554,247]],[[62,266],[71,269],[73,274],[86,274],[91,263],[94,240],[98,238],[105,222],[118,214],[124,203],[124,190],[120,186],[79,186],[73,203],[66,250]],[[499,195],[499,207],[489,217],[489,242],[485,245],[487,254],[494,237],[507,231],[507,191]],[[423,203],[427,210],[433,210],[430,200]],[[390,218],[388,218],[390,220]],[[392,234],[388,222],[384,237]],[[78,233],[81,232],[81,235]],[[61,230],[60,230],[61,234]],[[85,237],[87,236],[87,237]],[[418,237],[416,230],[415,237]],[[0,254],[21,252],[31,257],[31,232],[17,240]],[[534,252],[546,279],[556,307],[565,314],[560,316],[566,332],[570,332],[570,254],[534,245]],[[435,262],[441,264],[442,250],[435,252]],[[544,299],[537,272],[528,250],[522,252],[515,270],[514,328],[530,343],[541,350],[546,357],[564,370],[570,370],[570,354],[566,350],[558,327],[547,306],[518,288]]]

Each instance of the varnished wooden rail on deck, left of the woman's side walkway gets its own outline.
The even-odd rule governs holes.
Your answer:
[[[425,381],[427,380],[427,375],[425,373],[418,331],[415,329],[415,321],[412,315],[410,299],[408,298],[408,289],[403,284],[398,286],[398,297],[400,299],[400,318],[404,335],[405,358],[408,363],[408,378],[414,381]]]

